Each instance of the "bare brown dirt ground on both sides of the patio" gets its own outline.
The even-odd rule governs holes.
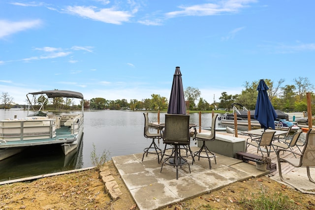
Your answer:
[[[0,186],[0,210],[138,210],[112,161],[106,163],[123,195],[113,201],[99,172],[92,170]],[[315,210],[315,195],[303,194],[268,177],[236,182],[163,210],[239,210],[262,194],[287,196],[290,209]],[[252,209],[252,208],[249,208]],[[262,209],[262,208],[261,208]]]

